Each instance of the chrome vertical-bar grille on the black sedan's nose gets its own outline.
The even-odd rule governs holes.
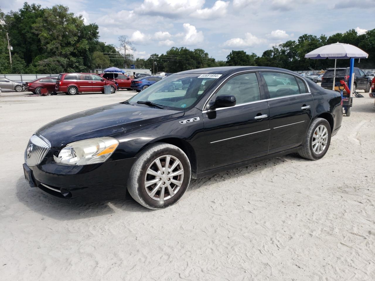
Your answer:
[[[49,142],[42,138],[43,137],[37,135],[31,136],[25,151],[25,161],[27,166],[36,166],[40,164],[48,150],[51,148]]]

